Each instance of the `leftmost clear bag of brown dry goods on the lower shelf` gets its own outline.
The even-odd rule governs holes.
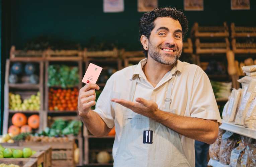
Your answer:
[[[210,147],[209,147],[209,156],[213,160],[216,160],[216,161],[220,160],[221,138],[222,138],[222,135],[225,132],[226,132],[225,130],[219,129],[219,136],[218,136],[218,138],[216,139],[214,144],[211,144]]]

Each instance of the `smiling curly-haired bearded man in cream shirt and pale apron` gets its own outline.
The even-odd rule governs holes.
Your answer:
[[[147,58],[115,72],[94,111],[99,87],[80,90],[78,110],[88,130],[100,137],[115,126],[115,167],[194,167],[194,140],[217,139],[221,118],[209,79],[200,67],[178,60],[187,24],[175,8],[145,13],[140,41]]]

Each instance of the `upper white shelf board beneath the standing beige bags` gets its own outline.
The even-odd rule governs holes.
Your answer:
[[[235,125],[234,122],[226,122],[222,120],[222,125],[219,127],[220,129],[234,132],[243,136],[247,136],[253,139],[256,139],[256,130],[245,128],[242,125]]]

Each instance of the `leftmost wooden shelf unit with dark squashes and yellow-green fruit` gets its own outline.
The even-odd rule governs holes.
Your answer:
[[[12,125],[11,118],[15,113],[23,113],[27,117],[33,114],[39,115],[40,125],[36,131],[42,130],[43,74],[43,60],[32,61],[27,58],[6,60],[3,134],[8,132],[8,128]]]

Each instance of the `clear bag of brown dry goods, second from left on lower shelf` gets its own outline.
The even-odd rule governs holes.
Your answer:
[[[222,135],[220,147],[220,162],[226,165],[230,164],[231,151],[237,147],[240,135],[226,131]]]

